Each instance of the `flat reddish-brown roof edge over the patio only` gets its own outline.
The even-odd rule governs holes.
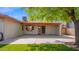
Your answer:
[[[21,24],[29,25],[29,26],[59,26],[61,23],[34,23],[34,22],[21,22]]]

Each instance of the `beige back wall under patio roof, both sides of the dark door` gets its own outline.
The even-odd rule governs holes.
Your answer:
[[[25,29],[24,33],[25,34],[38,34],[38,26],[34,26],[34,30],[32,31],[27,31]],[[61,35],[60,26],[46,26],[45,34]]]

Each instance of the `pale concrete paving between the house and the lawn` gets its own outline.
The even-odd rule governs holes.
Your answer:
[[[75,42],[75,40],[73,36],[24,35],[14,39],[5,39],[0,44],[63,44],[64,42]]]

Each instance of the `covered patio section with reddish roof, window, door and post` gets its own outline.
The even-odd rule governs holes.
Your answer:
[[[61,34],[61,23],[21,22],[24,34]]]

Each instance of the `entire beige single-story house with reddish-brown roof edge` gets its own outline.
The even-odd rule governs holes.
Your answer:
[[[61,35],[61,23],[24,22],[0,14],[0,32],[4,39],[14,38],[23,34]]]

